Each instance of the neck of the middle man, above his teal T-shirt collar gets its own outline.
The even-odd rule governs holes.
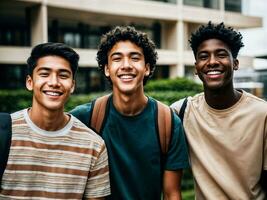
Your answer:
[[[141,113],[147,105],[148,98],[141,94],[113,94],[113,104],[118,112],[126,116],[134,116]]]

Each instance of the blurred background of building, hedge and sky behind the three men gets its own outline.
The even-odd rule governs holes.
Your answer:
[[[25,89],[26,60],[33,46],[63,42],[80,54],[76,91],[66,110],[109,91],[97,69],[102,34],[132,25],[155,42],[159,60],[146,92],[166,104],[202,91],[194,75],[188,39],[208,21],[224,22],[243,34],[234,84],[267,99],[267,4],[265,0],[0,0],[0,112],[31,105]],[[194,199],[190,170],[183,198]]]

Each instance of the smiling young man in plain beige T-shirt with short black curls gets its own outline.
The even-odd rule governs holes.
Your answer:
[[[233,86],[242,35],[209,22],[190,44],[204,87],[183,120],[196,199],[266,199],[267,103]],[[183,101],[171,107],[179,112]]]

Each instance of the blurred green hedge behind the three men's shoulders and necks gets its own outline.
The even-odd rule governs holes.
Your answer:
[[[202,86],[185,78],[150,80],[145,86],[147,95],[168,105],[186,96],[202,91]],[[108,92],[74,94],[70,97],[65,110],[92,101]],[[0,112],[14,112],[31,106],[32,93],[25,90],[0,90]]]

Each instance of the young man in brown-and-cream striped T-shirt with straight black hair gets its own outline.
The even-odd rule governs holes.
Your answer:
[[[104,199],[110,194],[103,139],[64,113],[78,61],[78,54],[60,43],[32,50],[26,78],[32,107],[11,115],[1,199]]]

